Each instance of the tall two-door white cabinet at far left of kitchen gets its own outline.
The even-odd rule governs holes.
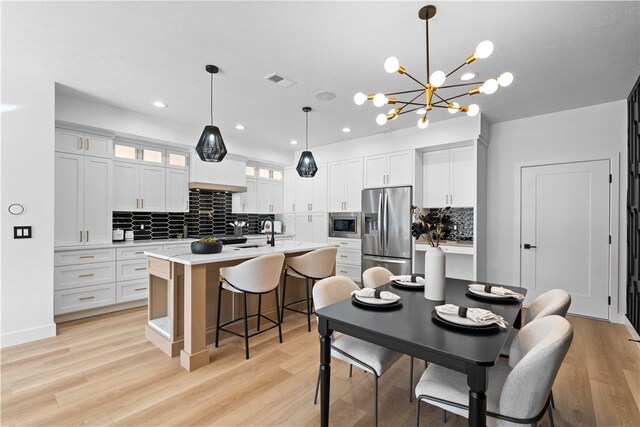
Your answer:
[[[111,159],[56,152],[56,246],[111,243]]]

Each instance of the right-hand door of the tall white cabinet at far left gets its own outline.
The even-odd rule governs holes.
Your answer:
[[[111,159],[84,158],[84,230],[87,245],[101,245],[112,241],[112,175]]]

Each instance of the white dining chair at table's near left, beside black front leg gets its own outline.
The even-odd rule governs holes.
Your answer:
[[[313,288],[313,300],[316,309],[350,298],[351,292],[359,289],[360,287],[348,277],[334,276],[320,280]],[[336,332],[331,337],[331,357],[347,362],[352,366],[355,365],[357,368],[373,374],[375,380],[374,420],[375,425],[378,425],[378,378],[397,362],[402,357],[402,354],[368,341]],[[314,405],[318,402],[319,386],[320,370],[318,369]],[[409,391],[411,392],[411,390]]]

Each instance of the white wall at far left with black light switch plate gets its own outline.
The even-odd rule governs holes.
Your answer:
[[[54,83],[2,68],[0,346],[55,336],[53,322]],[[25,213],[7,208],[20,203]],[[13,226],[33,238],[13,239]]]

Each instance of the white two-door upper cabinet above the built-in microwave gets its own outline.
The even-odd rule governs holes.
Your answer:
[[[332,162],[327,165],[329,212],[361,210],[362,158]]]

